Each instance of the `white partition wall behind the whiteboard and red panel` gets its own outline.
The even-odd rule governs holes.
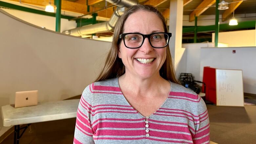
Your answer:
[[[232,53],[235,50],[236,53]],[[203,67],[243,70],[244,92],[256,94],[256,47],[202,48],[200,78]]]

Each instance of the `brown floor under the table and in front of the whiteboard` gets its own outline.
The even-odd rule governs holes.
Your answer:
[[[256,144],[256,106],[207,105],[211,141],[218,144]],[[71,144],[75,118],[33,123],[20,144]],[[13,133],[1,144],[12,144]]]

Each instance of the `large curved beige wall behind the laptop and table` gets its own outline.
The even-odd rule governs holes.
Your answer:
[[[81,94],[110,47],[32,26],[3,10],[0,19],[0,107],[13,104],[17,91],[38,90],[39,102]],[[8,129],[0,115],[0,135]]]

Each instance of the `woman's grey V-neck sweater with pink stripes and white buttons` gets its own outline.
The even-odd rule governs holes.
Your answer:
[[[125,99],[118,78],[87,86],[78,105],[74,144],[206,144],[209,141],[204,101],[173,82],[163,105],[147,117]]]

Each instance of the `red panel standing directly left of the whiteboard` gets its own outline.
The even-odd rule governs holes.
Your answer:
[[[216,69],[203,67],[203,82],[206,86],[205,99],[216,104]],[[202,88],[204,90],[204,87]]]

